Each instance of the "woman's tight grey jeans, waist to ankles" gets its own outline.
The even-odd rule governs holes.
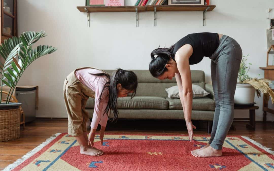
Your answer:
[[[217,50],[209,57],[215,98],[215,113],[209,144],[222,149],[234,118],[234,94],[242,59],[242,49],[236,40],[223,35]]]

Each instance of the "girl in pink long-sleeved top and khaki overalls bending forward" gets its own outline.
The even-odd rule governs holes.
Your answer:
[[[66,77],[63,89],[68,113],[68,134],[78,141],[81,154],[103,154],[93,147],[96,128],[98,124],[101,125],[99,134],[102,144],[108,118],[111,121],[118,119],[117,98],[126,97],[129,93],[132,93],[133,98],[137,85],[135,73],[123,69],[117,69],[110,76],[101,69],[85,67],[76,69]],[[86,122],[89,114],[85,106],[89,97],[95,98],[95,106],[87,137]],[[113,112],[113,119],[110,119],[110,111]]]

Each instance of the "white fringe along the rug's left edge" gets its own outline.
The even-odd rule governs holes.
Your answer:
[[[23,163],[25,160],[27,160],[28,158],[30,158],[31,156],[33,156],[35,153],[37,153],[39,150],[41,150],[43,147],[45,147],[47,144],[49,144],[51,141],[53,141],[56,137],[58,137],[58,135],[60,135],[61,133],[56,133],[54,135],[52,135],[50,138],[48,138],[45,142],[43,142],[42,144],[40,144],[39,146],[35,147],[33,150],[31,150],[30,152],[28,152],[27,154],[25,154],[24,156],[22,156],[22,158],[19,158],[18,160],[16,160],[14,163],[8,165],[3,171],[8,171],[8,170],[12,170],[15,167],[17,167],[19,164]]]

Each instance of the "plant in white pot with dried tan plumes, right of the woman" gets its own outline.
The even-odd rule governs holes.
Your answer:
[[[271,80],[268,79],[258,79],[250,78],[247,73],[250,69],[250,66],[247,66],[247,56],[243,56],[239,73],[238,73],[238,82],[236,85],[236,91],[234,96],[235,104],[245,104],[245,105],[254,105],[255,91],[258,97],[261,96],[261,93],[267,93],[274,103],[274,92],[269,87],[272,84]],[[249,65],[252,65],[249,63]]]

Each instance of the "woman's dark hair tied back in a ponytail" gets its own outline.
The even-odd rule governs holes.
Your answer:
[[[174,45],[170,48],[157,48],[150,53],[151,62],[149,63],[149,71],[153,77],[157,78],[167,71],[165,65],[170,59],[174,59],[173,49]]]

